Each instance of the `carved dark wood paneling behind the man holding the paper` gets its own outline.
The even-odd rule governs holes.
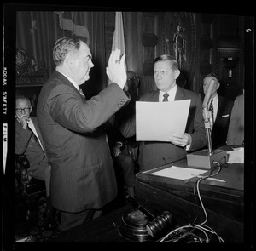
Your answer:
[[[105,14],[106,65],[112,47],[114,12]],[[242,17],[185,12],[123,12],[127,70],[137,72],[141,93],[156,89],[154,59],[172,54],[180,61],[186,86],[202,94],[202,78],[213,71],[221,83],[219,93],[234,98],[244,78]],[[232,26],[232,27],[231,27]],[[239,41],[239,43],[237,43]],[[223,59],[238,57],[228,77]]]

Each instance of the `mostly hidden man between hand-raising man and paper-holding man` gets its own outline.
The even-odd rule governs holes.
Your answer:
[[[127,81],[125,83],[125,94],[130,99],[127,106],[120,109],[114,115],[115,126],[109,127],[108,142],[111,145],[113,163],[117,168],[118,180],[124,184],[124,190],[131,197],[135,193],[135,174],[137,173],[137,151],[138,144],[136,137],[125,138],[119,132],[119,124],[128,117],[135,115],[135,103],[139,100],[140,79],[134,71],[127,71]]]

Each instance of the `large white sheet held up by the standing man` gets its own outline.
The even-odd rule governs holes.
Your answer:
[[[172,133],[184,134],[189,115],[190,101],[137,101],[137,141],[169,141]]]

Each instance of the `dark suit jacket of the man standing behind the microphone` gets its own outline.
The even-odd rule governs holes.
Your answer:
[[[212,148],[226,145],[233,101],[218,95],[218,111],[212,127]]]

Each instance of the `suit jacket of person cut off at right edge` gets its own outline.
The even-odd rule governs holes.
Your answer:
[[[236,97],[231,111],[227,145],[241,145],[244,140],[244,94]]]

